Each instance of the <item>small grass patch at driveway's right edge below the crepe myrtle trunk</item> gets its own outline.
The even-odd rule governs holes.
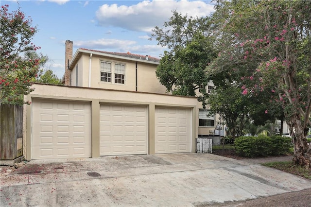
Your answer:
[[[269,162],[269,163],[262,163],[261,165],[275,168],[277,170],[280,170],[286,173],[292,173],[295,175],[299,175],[301,177],[311,180],[311,169],[306,169],[299,165],[294,165],[292,161]]]

